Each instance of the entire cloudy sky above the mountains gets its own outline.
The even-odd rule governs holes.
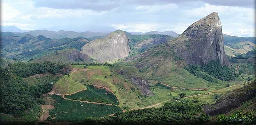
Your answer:
[[[255,0],[1,0],[1,25],[22,30],[181,34],[214,11],[224,34],[255,37]]]

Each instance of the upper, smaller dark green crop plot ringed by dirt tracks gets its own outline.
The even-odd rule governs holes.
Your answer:
[[[86,85],[86,87],[87,90],[67,95],[66,98],[119,105],[118,99],[113,93],[108,92],[105,89],[97,89],[92,85]]]

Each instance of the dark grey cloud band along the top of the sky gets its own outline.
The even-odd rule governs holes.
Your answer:
[[[47,7],[54,9],[83,9],[92,11],[111,11],[115,8],[137,5],[165,5],[165,4],[183,4],[191,2],[202,2],[211,5],[221,6],[242,6],[254,7],[254,0],[34,0],[36,7]]]

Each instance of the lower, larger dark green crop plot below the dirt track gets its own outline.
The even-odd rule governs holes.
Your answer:
[[[85,117],[103,117],[122,111],[120,107],[114,105],[109,106],[70,101],[63,99],[59,95],[51,95],[51,97],[55,100],[55,108],[50,110],[50,116],[47,121],[83,121]]]

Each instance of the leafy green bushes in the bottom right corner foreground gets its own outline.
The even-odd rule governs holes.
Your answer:
[[[219,115],[218,124],[220,125],[253,125],[256,123],[256,114],[254,112],[235,113],[230,116]]]

